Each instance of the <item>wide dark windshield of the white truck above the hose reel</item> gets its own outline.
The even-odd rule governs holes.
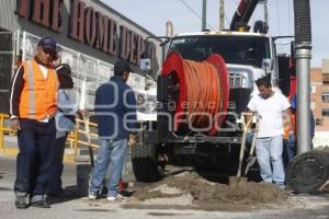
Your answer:
[[[171,41],[168,51],[178,51],[183,58],[196,61],[219,54],[226,64],[259,68],[264,58],[271,58],[269,38],[261,36],[181,36]]]

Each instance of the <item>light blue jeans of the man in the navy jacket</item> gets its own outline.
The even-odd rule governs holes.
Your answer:
[[[109,165],[111,164],[111,175],[107,185],[107,197],[117,195],[118,181],[122,176],[122,171],[127,151],[127,140],[99,140],[100,149],[92,177],[90,181],[89,192],[100,194],[103,188],[103,181],[106,175]]]

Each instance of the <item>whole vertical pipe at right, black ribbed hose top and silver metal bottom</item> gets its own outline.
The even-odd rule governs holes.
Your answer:
[[[297,153],[311,149],[310,142],[310,58],[311,23],[309,0],[294,0],[297,77]]]

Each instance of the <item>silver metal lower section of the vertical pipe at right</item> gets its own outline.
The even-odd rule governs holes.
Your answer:
[[[311,149],[310,139],[310,46],[296,45],[297,72],[297,153]]]

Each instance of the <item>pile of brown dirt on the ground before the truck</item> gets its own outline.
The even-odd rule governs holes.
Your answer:
[[[134,193],[139,200],[177,198],[189,196],[193,204],[280,204],[287,199],[287,194],[272,184],[240,181],[234,185],[213,183],[194,172],[184,172],[168,176],[163,181]]]

